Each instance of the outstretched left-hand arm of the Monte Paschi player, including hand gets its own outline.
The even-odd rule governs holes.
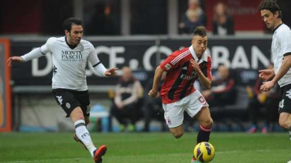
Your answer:
[[[53,38],[53,37],[47,39],[47,41],[46,41],[46,43],[44,45],[42,45],[41,47],[37,47],[37,48],[31,50],[26,55],[23,55],[23,56],[20,56],[20,57],[17,57],[17,56],[10,57],[7,60],[8,66],[11,66],[12,62],[27,62],[27,61],[30,61],[30,60],[33,60],[33,59],[36,59],[36,58],[44,56],[47,52],[50,51],[50,46],[51,46],[51,44],[53,43],[53,41],[55,39],[56,38]]]

